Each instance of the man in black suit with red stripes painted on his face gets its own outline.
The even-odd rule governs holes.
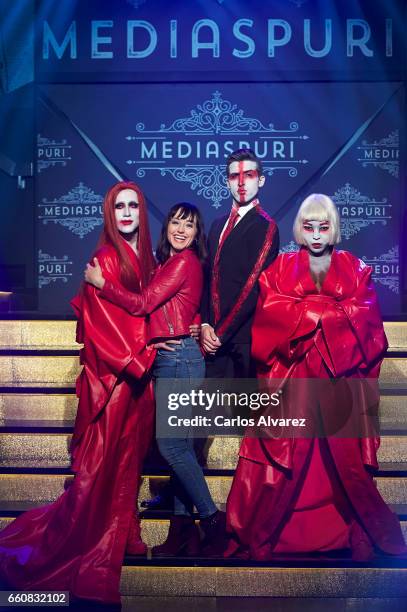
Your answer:
[[[208,378],[249,378],[255,376],[250,348],[257,280],[277,257],[279,236],[277,225],[259,204],[265,177],[254,152],[233,152],[226,162],[226,176],[233,205],[230,214],[214,221],[209,231],[201,344]]]

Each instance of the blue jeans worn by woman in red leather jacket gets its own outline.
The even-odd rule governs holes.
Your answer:
[[[205,362],[193,338],[183,338],[173,345],[175,351],[160,349],[154,361],[155,378],[204,379]],[[159,407],[158,407],[159,408]],[[158,438],[161,455],[172,469],[174,514],[190,515],[195,506],[199,517],[206,518],[217,510],[201,466],[196,458],[194,439]]]

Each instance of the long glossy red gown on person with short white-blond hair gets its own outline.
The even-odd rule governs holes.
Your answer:
[[[372,391],[354,383],[369,378],[376,385],[387,349],[370,277],[371,268],[334,250],[318,291],[308,251],[281,254],[259,281],[252,330],[259,377],[268,384],[272,379],[351,380],[362,414],[364,405],[371,405],[365,395]],[[308,388],[315,390],[312,384]],[[307,396],[301,409],[318,413],[329,430],[332,399],[335,410],[345,409],[340,399],[318,392],[316,398]],[[295,411],[293,405],[291,416]],[[405,552],[398,519],[365,467],[377,468],[379,443],[377,436],[246,435],[227,502],[226,556],[268,560],[276,553],[346,548],[355,521],[380,550]]]

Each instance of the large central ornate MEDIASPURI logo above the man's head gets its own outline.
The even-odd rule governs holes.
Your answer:
[[[138,123],[138,135],[126,136],[137,147],[136,159],[128,159],[127,163],[137,166],[140,178],[146,172],[158,171],[161,176],[187,182],[193,191],[219,208],[222,200],[230,197],[224,163],[229,153],[250,147],[262,160],[265,174],[285,171],[295,177],[298,167],[308,163],[295,154],[299,142],[309,138],[298,134],[298,130],[295,121],[279,129],[273,123],[264,125],[259,119],[246,117],[237,104],[224,100],[215,91],[210,100],[197,104],[189,117],[176,119],[168,126],[163,123],[157,130],[146,130],[144,123]],[[185,160],[184,165],[174,165],[180,160]]]

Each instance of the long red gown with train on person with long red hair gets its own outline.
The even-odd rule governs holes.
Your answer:
[[[139,277],[137,257],[127,248]],[[116,251],[104,246],[96,255],[105,278],[119,283]],[[54,503],[3,529],[0,577],[14,589],[63,590],[76,598],[118,603],[142,464],[153,435],[146,372],[154,351],[146,347],[144,319],[99,299],[91,285],[84,285],[72,305],[77,341],[84,343],[71,445],[75,477]]]

